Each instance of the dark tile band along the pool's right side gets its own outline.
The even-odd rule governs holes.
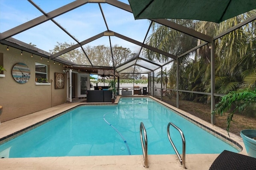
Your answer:
[[[152,98],[153,100],[155,100],[154,98]],[[156,102],[158,102],[157,100],[155,100]],[[165,106],[165,107],[168,107],[167,105],[161,103],[161,102],[158,102],[159,104]],[[187,115],[184,115],[182,113],[180,113],[179,111],[176,111],[174,110],[173,108],[171,107],[168,107],[169,109],[171,109],[174,113],[180,115],[181,117],[183,117],[184,119],[190,121],[191,123],[193,123],[194,125],[200,127],[201,129],[203,129],[204,131],[210,133],[211,135],[214,135],[214,137],[217,137],[218,139],[222,140],[223,142],[227,143],[228,145],[230,145],[231,147],[233,147],[234,149],[238,150],[238,152],[241,152],[243,150],[243,147],[237,143],[236,141],[234,141],[233,139],[229,138],[229,137],[226,137],[225,135],[222,135],[221,133],[215,131],[214,129],[188,117]],[[203,121],[203,120],[202,120]]]

